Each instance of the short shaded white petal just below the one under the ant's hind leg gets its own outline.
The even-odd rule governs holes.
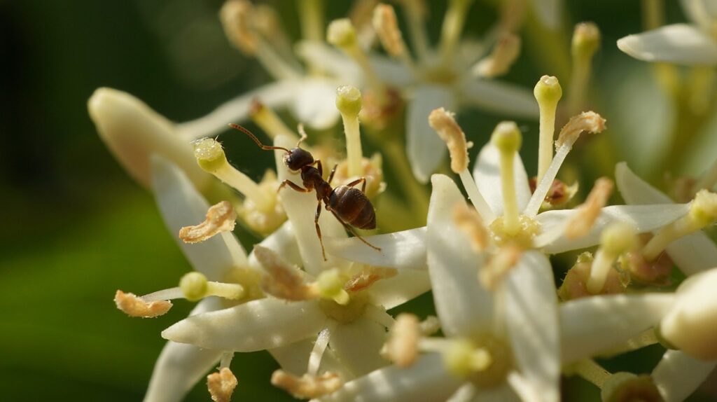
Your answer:
[[[402,305],[431,289],[428,272],[404,270],[389,279],[381,279],[369,288],[376,305],[386,310]]]

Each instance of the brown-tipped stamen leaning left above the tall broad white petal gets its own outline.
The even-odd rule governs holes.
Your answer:
[[[476,211],[484,221],[493,221],[495,214],[493,214],[483,195],[478,191],[478,186],[475,185],[475,180],[473,180],[473,176],[468,171],[468,145],[465,140],[465,133],[461,130],[460,125],[456,123],[453,113],[443,107],[439,107],[428,116],[428,124],[448,146],[451,170],[460,175],[463,187]]]

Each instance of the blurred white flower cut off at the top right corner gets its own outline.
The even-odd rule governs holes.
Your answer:
[[[623,37],[617,47],[646,62],[687,65],[716,65],[715,21],[717,3],[713,0],[680,0],[691,24],[671,24]]]

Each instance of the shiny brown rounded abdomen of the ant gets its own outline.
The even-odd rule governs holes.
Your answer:
[[[359,229],[376,229],[376,212],[366,194],[358,188],[339,186],[333,189],[328,205],[339,218]]]

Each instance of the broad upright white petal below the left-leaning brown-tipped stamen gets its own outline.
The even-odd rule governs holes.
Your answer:
[[[493,294],[478,282],[483,257],[453,222],[455,206],[465,204],[460,190],[443,175],[433,175],[431,183],[426,247],[436,311],[446,335],[475,334],[493,320]]]

